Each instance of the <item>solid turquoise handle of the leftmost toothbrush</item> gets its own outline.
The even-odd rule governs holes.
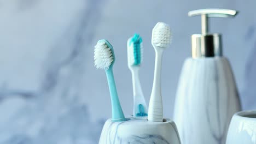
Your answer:
[[[112,104],[112,121],[125,121],[124,113],[120,105],[120,101],[117,94],[117,88],[115,86],[115,80],[113,75],[112,67],[106,70],[107,80],[108,80],[108,87],[111,97],[111,104]]]

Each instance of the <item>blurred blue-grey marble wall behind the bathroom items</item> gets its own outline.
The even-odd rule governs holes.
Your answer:
[[[141,83],[146,100],[152,88],[151,31],[169,23],[173,43],[164,53],[164,115],[172,117],[190,35],[200,33],[201,8],[237,9],[235,19],[212,19],[211,32],[223,33],[243,109],[255,109],[256,1],[0,0],[0,143],[97,143],[110,117],[104,71],[94,68],[98,39],[108,39],[117,61],[115,79],[123,110],[132,113],[132,86],[126,40],[144,39]]]

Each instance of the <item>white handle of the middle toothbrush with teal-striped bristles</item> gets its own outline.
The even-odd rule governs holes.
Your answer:
[[[133,88],[133,117],[137,117],[138,112],[142,112],[147,114],[148,108],[146,104],[146,100],[144,98],[141,82],[139,81],[139,67],[132,67],[132,88]],[[139,110],[139,105],[143,105],[143,110]]]

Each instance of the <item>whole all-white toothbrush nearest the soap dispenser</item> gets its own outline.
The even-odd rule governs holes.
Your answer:
[[[148,121],[162,122],[161,65],[162,53],[171,43],[170,26],[164,22],[156,23],[152,31],[151,43],[155,49],[155,71],[152,93],[149,100]]]

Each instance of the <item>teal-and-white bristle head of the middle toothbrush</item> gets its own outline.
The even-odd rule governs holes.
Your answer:
[[[142,38],[135,34],[130,41],[130,64],[131,65],[139,65],[142,62]]]

